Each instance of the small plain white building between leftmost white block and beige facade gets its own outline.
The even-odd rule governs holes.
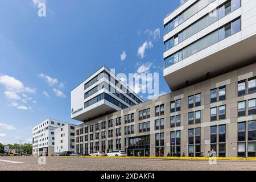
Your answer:
[[[55,154],[75,152],[75,125],[66,124],[55,129]]]

